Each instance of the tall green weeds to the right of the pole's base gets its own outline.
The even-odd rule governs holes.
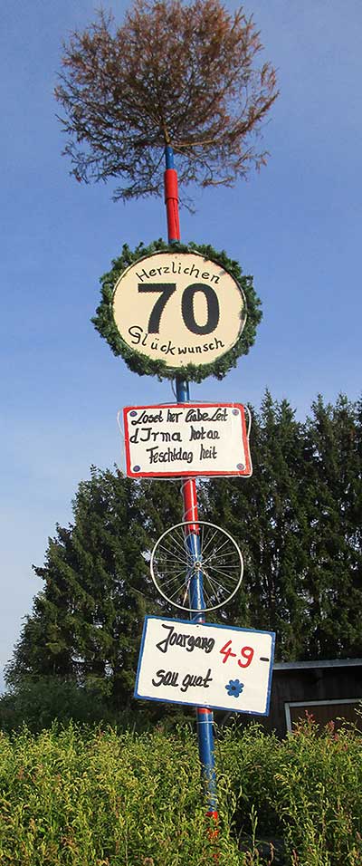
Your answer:
[[[322,731],[311,717],[285,740],[250,726],[221,743],[236,797],[239,838],[282,839],[287,863],[362,864],[362,738],[353,726]]]

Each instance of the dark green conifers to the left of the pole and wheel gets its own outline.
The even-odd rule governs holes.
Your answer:
[[[57,527],[44,582],[27,617],[7,679],[55,675],[98,682],[115,707],[133,690],[146,612],[159,612],[148,553],[162,514],[181,519],[173,486],[129,481],[94,467],[81,482],[74,522]],[[158,524],[158,525],[157,525]]]

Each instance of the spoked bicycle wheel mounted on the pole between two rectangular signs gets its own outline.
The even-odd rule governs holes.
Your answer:
[[[183,611],[200,610],[190,602],[197,575],[202,580],[205,611],[227,604],[243,580],[238,545],[226,530],[204,520],[187,520],[167,529],[158,538],[149,565],[159,594]]]

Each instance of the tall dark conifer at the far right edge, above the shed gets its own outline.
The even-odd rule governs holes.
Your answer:
[[[308,657],[362,653],[361,404],[322,397],[306,424]]]

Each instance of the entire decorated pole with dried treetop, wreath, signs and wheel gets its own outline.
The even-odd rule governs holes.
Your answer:
[[[268,714],[274,636],[205,621],[238,592],[243,555],[227,529],[200,519],[196,478],[252,475],[250,413],[237,399],[191,403],[189,382],[223,379],[262,313],[237,262],[181,244],[174,149],[183,188],[229,186],[264,164],[256,133],[278,91],[271,64],[255,63],[261,51],[252,18],[222,0],[134,0],[121,26],[100,13],[71,35],[56,89],[78,181],[119,177],[114,198],[124,201],[165,189],[167,243],[123,245],[92,322],[129,370],[176,380],[176,404],[123,409],[127,476],[178,478],[184,503],[182,523],[149,552],[157,595],[178,618],[145,617],[134,695],[195,707],[211,838],[212,710]]]

